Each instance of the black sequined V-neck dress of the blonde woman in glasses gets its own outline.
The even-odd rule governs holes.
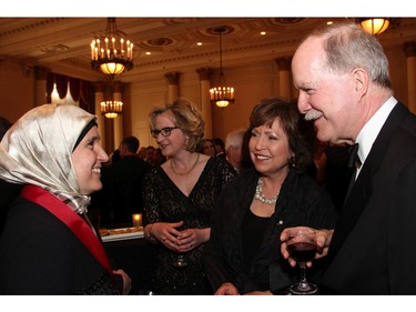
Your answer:
[[[161,167],[143,181],[144,223],[184,221],[184,229],[210,227],[211,212],[224,185],[235,177],[229,165],[211,158],[186,197]],[[154,291],[158,294],[212,294],[204,274],[204,245],[184,253],[185,268],[175,268],[177,253],[161,245]]]

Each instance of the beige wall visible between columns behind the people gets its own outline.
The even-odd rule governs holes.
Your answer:
[[[385,48],[390,62],[393,88],[396,98],[407,103],[407,68],[405,53],[402,46]],[[168,70],[166,70],[168,72]],[[71,73],[67,73],[70,76]],[[126,84],[123,91],[124,113],[123,134],[136,135],[141,145],[155,145],[150,137],[148,115],[149,112],[169,99],[165,71],[156,77],[140,76],[140,81]],[[248,125],[248,117],[253,107],[266,97],[280,95],[280,74],[276,62],[258,61],[244,68],[224,68],[227,84],[235,88],[235,103],[225,109],[212,108],[212,137],[223,140],[226,134]],[[213,74],[212,80],[215,78]],[[34,107],[34,76],[21,66],[0,61],[0,115],[14,122],[20,115]],[[291,93],[296,97],[296,91],[291,83]],[[201,109],[200,77],[196,68],[181,71],[179,81],[179,95],[190,99]],[[111,135],[105,127],[105,135]],[[207,131],[209,133],[210,131]],[[108,140],[105,140],[108,142]],[[111,140],[110,140],[111,142]],[[116,148],[116,147],[115,147]],[[113,151],[110,144],[108,152]]]

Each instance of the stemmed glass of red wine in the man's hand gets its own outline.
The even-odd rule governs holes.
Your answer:
[[[286,240],[291,258],[296,260],[301,268],[301,280],[290,286],[293,294],[313,294],[317,286],[306,280],[306,262],[312,261],[316,253],[316,234],[311,229],[291,230]]]

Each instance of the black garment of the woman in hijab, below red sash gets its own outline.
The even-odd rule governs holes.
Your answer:
[[[44,208],[18,198],[0,238],[1,294],[116,294],[108,270]]]

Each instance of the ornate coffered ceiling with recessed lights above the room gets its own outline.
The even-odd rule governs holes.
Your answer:
[[[134,43],[134,68],[123,73],[122,79],[134,81],[142,73],[160,74],[184,68],[217,68],[219,36],[212,30],[219,26],[227,28],[222,37],[226,69],[292,56],[311,29],[329,20],[345,19],[118,18],[119,31]],[[90,67],[90,43],[95,36],[103,34],[105,27],[105,18],[0,18],[0,61],[41,66],[97,80],[101,74]],[[416,19],[395,19],[379,40],[383,44],[416,40]]]

